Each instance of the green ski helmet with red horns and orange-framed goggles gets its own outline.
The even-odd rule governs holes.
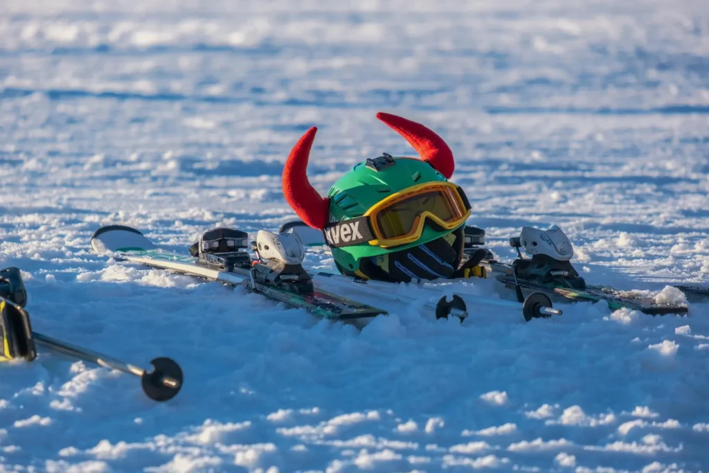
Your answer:
[[[286,160],[286,201],[312,228],[322,230],[342,274],[389,282],[452,277],[463,252],[470,204],[448,179],[453,154],[420,123],[377,113],[420,158],[384,153],[355,165],[323,198],[306,167],[317,128],[308,130]]]

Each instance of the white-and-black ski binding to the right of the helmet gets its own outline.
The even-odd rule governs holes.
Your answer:
[[[515,279],[586,289],[586,281],[571,266],[574,247],[561,228],[555,225],[549,230],[523,227],[519,237],[510,238],[510,246],[519,256],[512,264]],[[520,248],[532,258],[525,259]]]

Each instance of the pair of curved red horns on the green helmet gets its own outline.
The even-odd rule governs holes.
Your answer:
[[[415,121],[379,112],[376,118],[386,123],[418,152],[422,160],[428,162],[434,169],[443,174],[446,179],[453,175],[455,162],[453,152],[448,148],[443,138]],[[308,226],[322,230],[328,224],[330,201],[318,194],[308,181],[306,167],[308,157],[315,140],[318,128],[314,127],[298,140],[298,143],[288,155],[283,169],[283,194],[286,201]]]

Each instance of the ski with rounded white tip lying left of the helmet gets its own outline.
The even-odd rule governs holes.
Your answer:
[[[304,308],[315,316],[332,321],[386,315],[386,311],[379,308],[314,288],[299,262],[287,263],[281,268],[268,267],[259,262],[253,264],[247,252],[237,251],[247,246],[247,235],[238,230],[232,231],[240,235],[211,236],[215,237],[213,240],[233,241],[233,246],[222,248],[220,252],[203,252],[207,256],[202,259],[198,255],[163,250],[139,230],[127,226],[99,228],[91,237],[91,247],[98,253],[115,252],[121,260],[242,286],[268,299]]]

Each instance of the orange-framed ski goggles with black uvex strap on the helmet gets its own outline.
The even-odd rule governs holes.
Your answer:
[[[330,247],[364,242],[393,247],[418,240],[426,223],[440,230],[453,230],[470,213],[463,189],[451,182],[428,182],[377,202],[362,217],[331,223],[323,233]]]

